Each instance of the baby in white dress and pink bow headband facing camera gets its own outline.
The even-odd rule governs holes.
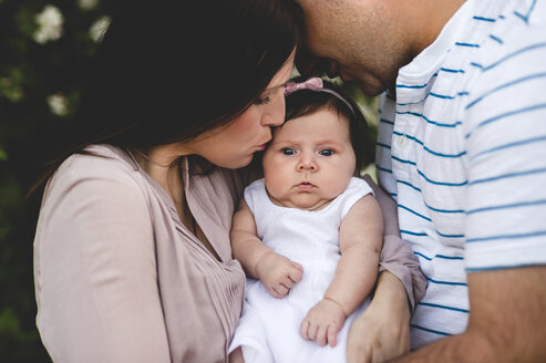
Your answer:
[[[249,279],[230,357],[346,362],[347,334],[375,283],[383,236],[372,190],[354,177],[365,122],[321,79],[289,83],[285,92],[287,122],[265,151],[265,178],[245,189],[233,220],[233,252]]]

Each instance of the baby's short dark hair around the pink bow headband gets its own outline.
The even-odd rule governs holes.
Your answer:
[[[292,82],[302,82],[307,77],[296,77]],[[357,158],[356,170],[360,173],[362,168],[371,162],[373,157],[373,144],[368,142],[368,125],[364,115],[360,112],[357,103],[347,93],[334,83],[322,80],[324,89],[332,90],[346,100],[349,106],[328,92],[300,90],[290,93],[286,97],[286,122],[292,118],[313,114],[321,110],[330,110],[349,122],[349,133],[351,137],[352,149]],[[282,126],[280,126],[282,127]]]

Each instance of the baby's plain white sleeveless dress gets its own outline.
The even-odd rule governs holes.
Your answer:
[[[245,189],[258,237],[275,252],[303,267],[303,278],[284,299],[272,297],[259,280],[247,279],[243,317],[229,351],[243,348],[245,363],[346,362],[347,334],[369,299],[346,321],[334,348],[320,346],[300,335],[300,324],[319,302],[333,279],[340,258],[339,227],[349,209],[372,193],[362,179],[351,178],[348,188],[321,210],[274,205],[264,179]],[[365,221],[363,221],[365,222]]]

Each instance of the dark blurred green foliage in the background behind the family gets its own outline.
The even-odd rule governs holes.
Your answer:
[[[32,240],[40,196],[27,196],[73,122],[95,41],[90,28],[105,0],[0,0],[0,362],[50,362],[35,329]],[[39,43],[37,14],[54,6],[62,35]],[[374,103],[349,89],[368,110]],[[65,108],[48,103],[62,95]],[[372,131],[370,139],[373,139]]]

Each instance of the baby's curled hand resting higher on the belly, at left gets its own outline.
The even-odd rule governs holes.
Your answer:
[[[303,268],[285,256],[271,251],[260,258],[256,272],[269,293],[280,299],[301,281]]]

